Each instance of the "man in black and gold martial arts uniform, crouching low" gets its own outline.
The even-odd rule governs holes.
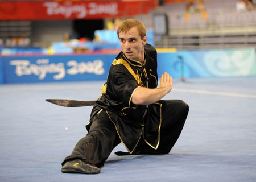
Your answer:
[[[65,158],[64,173],[100,173],[119,143],[117,155],[168,154],[183,129],[188,105],[160,100],[172,89],[164,73],[158,88],[156,49],[147,44],[146,29],[135,19],[118,27],[122,52],[114,59],[102,95],[92,109],[88,134]]]

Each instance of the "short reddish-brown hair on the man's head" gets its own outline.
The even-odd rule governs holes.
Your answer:
[[[139,36],[141,36],[141,39],[143,39],[144,36],[146,36],[146,28],[142,22],[136,19],[127,19],[123,21],[117,29],[118,38],[119,38],[119,32],[122,31],[126,33],[133,27],[137,27],[137,30],[139,32]]]

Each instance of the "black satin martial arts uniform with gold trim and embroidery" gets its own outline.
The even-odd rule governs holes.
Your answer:
[[[156,88],[158,84],[156,49],[144,46],[143,64],[127,59],[120,52],[110,67],[102,96],[92,109],[88,134],[79,140],[65,162],[83,159],[103,166],[119,143],[127,154],[168,154],[179,138],[188,105],[181,100],[160,100],[151,105],[135,105],[131,97],[137,88]],[[125,155],[125,152],[117,152]]]

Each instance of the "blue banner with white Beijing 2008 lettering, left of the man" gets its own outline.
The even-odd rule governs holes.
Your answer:
[[[106,80],[115,55],[4,57],[6,82]]]

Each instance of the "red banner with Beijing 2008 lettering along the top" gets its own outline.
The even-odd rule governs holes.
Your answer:
[[[156,6],[155,0],[0,2],[0,20],[122,18],[146,14]]]

